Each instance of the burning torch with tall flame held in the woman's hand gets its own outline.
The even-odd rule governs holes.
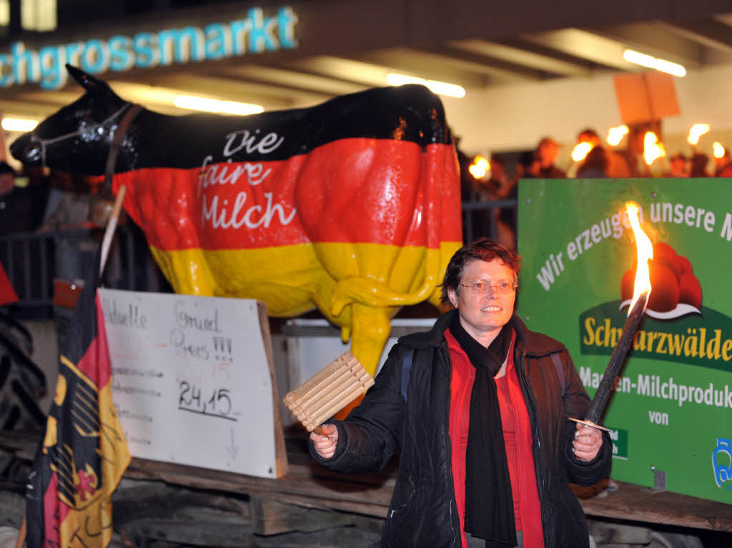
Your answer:
[[[641,230],[641,223],[638,221],[638,204],[635,202],[627,202],[625,204],[630,219],[630,225],[635,234],[635,246],[638,250],[638,269],[635,271],[635,285],[633,286],[633,300],[628,307],[628,318],[625,320],[623,331],[621,332],[618,344],[610,356],[608,368],[605,369],[605,375],[602,375],[600,386],[592,398],[592,403],[587,411],[585,418],[572,418],[572,421],[585,424],[589,427],[607,430],[600,426],[600,417],[607,407],[610,391],[625,361],[625,356],[630,349],[635,331],[641,325],[643,313],[646,312],[646,304],[648,304],[649,296],[651,296],[651,277],[649,274],[648,261],[653,258],[653,245],[646,233]]]

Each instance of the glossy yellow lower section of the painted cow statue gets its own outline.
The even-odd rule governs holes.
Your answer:
[[[455,241],[442,242],[440,249],[353,243],[217,251],[151,249],[176,293],[258,299],[269,315],[280,318],[317,307],[340,326],[343,342],[351,339],[351,351],[373,376],[392,316],[400,307],[425,300],[439,306],[438,285],[460,245]],[[356,325],[359,329],[351,332]]]

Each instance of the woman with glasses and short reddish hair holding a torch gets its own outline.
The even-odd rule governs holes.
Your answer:
[[[310,435],[323,465],[399,472],[382,547],[588,547],[569,481],[610,473],[611,444],[583,417],[590,400],[567,348],[513,315],[520,258],[488,239],[453,255],[455,309],[401,337],[346,421]]]

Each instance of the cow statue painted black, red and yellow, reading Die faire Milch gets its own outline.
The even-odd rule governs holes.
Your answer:
[[[369,89],[313,108],[166,116],[67,65],[85,94],[11,146],[25,165],[102,179],[176,293],[318,307],[374,375],[409,304],[439,304],[461,243],[460,178],[440,100],[424,86]],[[138,110],[139,109],[139,110]],[[122,137],[122,140],[119,140]]]

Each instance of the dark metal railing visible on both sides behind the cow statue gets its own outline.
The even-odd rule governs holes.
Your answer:
[[[517,202],[463,202],[462,209],[463,241],[481,236],[497,239],[498,211],[512,211],[516,218]],[[18,295],[16,316],[52,318],[54,279],[73,281],[89,274],[102,234],[103,230],[97,228],[0,236],[0,263]],[[171,291],[142,231],[132,223],[116,230],[102,285],[135,291]]]

